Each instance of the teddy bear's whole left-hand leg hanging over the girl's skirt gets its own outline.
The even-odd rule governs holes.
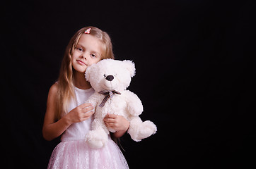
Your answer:
[[[101,120],[103,121],[103,120]],[[94,149],[100,149],[107,144],[108,131],[105,124],[101,123],[100,120],[94,120],[92,124],[93,130],[86,134],[86,143]]]

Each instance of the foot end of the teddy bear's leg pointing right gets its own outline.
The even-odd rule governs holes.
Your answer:
[[[139,130],[137,139],[139,139],[139,140],[145,139],[145,138],[151,136],[152,134],[155,134],[156,130],[157,130],[156,125],[153,122],[147,120],[144,123],[142,123],[141,130]]]

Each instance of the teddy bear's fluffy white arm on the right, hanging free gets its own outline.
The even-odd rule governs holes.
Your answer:
[[[122,93],[127,101],[127,111],[133,116],[140,115],[143,112],[143,106],[139,97],[133,92],[126,90]]]

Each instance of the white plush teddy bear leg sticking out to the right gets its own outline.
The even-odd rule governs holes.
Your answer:
[[[136,142],[151,136],[151,134],[156,133],[156,125],[151,121],[147,120],[142,122],[141,118],[134,117],[130,121],[128,133],[131,135],[132,139]]]

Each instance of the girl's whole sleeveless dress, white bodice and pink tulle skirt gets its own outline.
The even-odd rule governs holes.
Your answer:
[[[94,90],[74,87],[76,100],[71,101],[69,111],[83,104]],[[85,136],[91,129],[93,118],[74,123],[62,134],[59,143],[50,158],[48,168],[69,169],[115,169],[129,168],[119,147],[109,137],[109,142],[102,149],[92,149],[85,142]]]

